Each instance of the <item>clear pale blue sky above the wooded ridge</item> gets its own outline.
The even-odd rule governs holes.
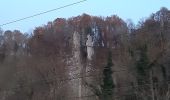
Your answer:
[[[37,13],[62,7],[81,0],[0,0],[0,25]],[[1,26],[5,30],[31,32],[35,27],[45,25],[56,18],[69,18],[87,13],[93,16],[118,15],[123,20],[137,23],[142,18],[166,7],[170,0],[87,0],[67,8],[56,10],[30,19]]]

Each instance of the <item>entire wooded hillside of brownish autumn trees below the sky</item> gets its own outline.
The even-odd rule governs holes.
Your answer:
[[[0,29],[0,100],[170,100],[170,10]]]

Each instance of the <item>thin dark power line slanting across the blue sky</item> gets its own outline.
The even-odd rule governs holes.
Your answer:
[[[54,9],[51,9],[51,10],[40,12],[40,13],[31,15],[31,16],[27,16],[27,17],[24,17],[24,18],[13,20],[13,21],[1,24],[0,27],[8,25],[8,24],[16,23],[16,22],[19,22],[19,21],[22,21],[22,20],[26,20],[26,19],[29,19],[29,18],[33,18],[33,17],[36,17],[36,16],[40,16],[40,15],[43,15],[43,14],[46,14],[46,13],[49,13],[49,12],[53,12],[53,11],[56,11],[56,10],[60,10],[60,9],[63,9],[63,8],[69,7],[69,6],[77,5],[77,4],[85,2],[85,1],[87,1],[87,0],[81,0],[81,1],[74,2],[74,3],[71,3],[71,4],[65,5],[65,6],[61,6],[61,7],[58,7],[58,8],[54,8]]]

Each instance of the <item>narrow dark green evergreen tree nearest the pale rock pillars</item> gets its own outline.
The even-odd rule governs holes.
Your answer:
[[[109,52],[107,65],[103,70],[103,85],[101,86],[103,100],[113,100],[114,83],[112,78],[112,54]]]

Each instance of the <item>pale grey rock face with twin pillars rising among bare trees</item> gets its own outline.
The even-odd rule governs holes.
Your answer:
[[[86,41],[82,41],[82,38],[86,38]],[[85,59],[87,59],[87,62],[83,62],[82,61],[82,52],[81,52],[81,46],[82,46],[82,42],[84,42],[84,46],[86,49],[84,51],[86,51],[87,53],[87,57]],[[87,68],[91,67],[89,66],[89,63],[92,59],[93,59],[93,55],[94,55],[94,48],[93,48],[93,40],[92,40],[92,36],[90,35],[82,35],[78,32],[74,32],[73,33],[73,58],[72,58],[72,66],[70,66],[70,73],[72,73],[72,75],[70,76],[74,76],[73,74],[79,74],[79,76],[81,78],[76,79],[73,83],[76,83],[77,85],[72,85],[72,90],[74,91],[74,95],[78,96],[78,97],[82,97],[84,94],[87,94],[86,91],[88,91],[85,86],[84,86],[84,80],[86,79],[86,71]],[[73,68],[73,69],[72,69]],[[75,76],[77,77],[77,76]],[[81,98],[79,99],[81,100]]]

